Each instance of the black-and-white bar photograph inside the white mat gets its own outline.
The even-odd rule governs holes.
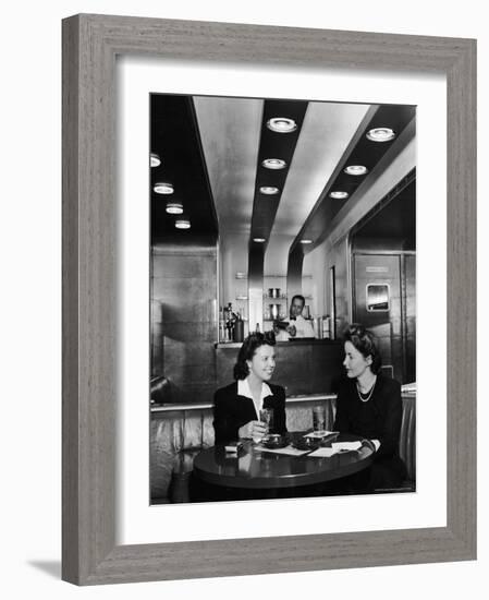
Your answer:
[[[416,106],[150,94],[150,504],[416,491]]]

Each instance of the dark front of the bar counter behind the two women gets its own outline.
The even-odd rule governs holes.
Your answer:
[[[215,344],[217,387],[232,377],[241,343]],[[342,374],[343,346],[333,339],[293,339],[276,344],[272,382],[286,388],[288,396],[323,394],[334,391]]]

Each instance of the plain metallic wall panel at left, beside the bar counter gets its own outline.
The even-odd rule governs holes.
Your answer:
[[[152,373],[173,401],[211,400],[216,388],[217,250],[204,240],[152,248]]]

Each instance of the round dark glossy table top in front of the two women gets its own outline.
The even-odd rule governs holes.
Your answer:
[[[305,432],[289,433],[291,441]],[[343,434],[338,442],[353,442],[359,437]],[[368,467],[374,453],[342,452],[330,457],[307,454],[290,456],[266,452],[246,441],[237,454],[227,453],[223,445],[201,451],[194,460],[194,472],[203,481],[229,488],[271,489],[295,488],[347,477]]]

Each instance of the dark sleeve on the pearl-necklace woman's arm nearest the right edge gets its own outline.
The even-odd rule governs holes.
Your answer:
[[[386,385],[379,397],[379,410],[382,417],[382,433],[377,457],[399,454],[399,436],[402,422],[401,384],[395,380],[384,380]]]

